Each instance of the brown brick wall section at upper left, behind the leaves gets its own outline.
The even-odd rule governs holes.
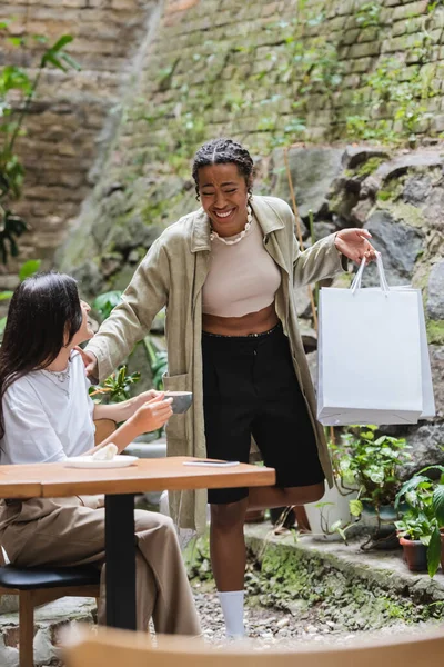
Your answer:
[[[19,263],[32,258],[50,261],[64,237],[67,221],[78,215],[93,178],[89,170],[107,141],[105,120],[122,99],[132,76],[134,56],[155,23],[159,1],[149,0],[7,0],[0,20],[11,19],[11,33],[39,34],[54,43],[62,34],[74,41],[68,52],[81,71],[48,70],[18,142],[26,167],[23,199],[16,209],[32,226],[20,242]],[[24,68],[32,77],[43,47],[30,40],[18,49],[6,40],[1,61]],[[110,120],[110,119],[109,119]],[[109,135],[109,132],[108,132]],[[16,262],[8,267],[12,273]],[[3,276],[0,288],[13,285]]]

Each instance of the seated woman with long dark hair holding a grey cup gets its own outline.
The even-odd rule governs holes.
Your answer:
[[[94,405],[80,354],[92,338],[88,303],[60,273],[28,278],[13,293],[0,348],[0,464],[63,461],[94,450],[93,419],[124,421],[103,445],[122,451],[171,416],[164,395],[147,391]],[[104,559],[102,497],[0,502],[0,545],[13,565],[68,566]],[[135,510],[137,620],[158,633],[199,635],[200,624],[171,519]],[[103,591],[103,569],[101,589]],[[104,591],[103,591],[104,593]],[[104,595],[99,623],[104,623]]]

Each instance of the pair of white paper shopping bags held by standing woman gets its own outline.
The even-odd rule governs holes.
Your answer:
[[[434,415],[421,291],[380,288],[320,295],[317,419],[324,426],[416,424]]]

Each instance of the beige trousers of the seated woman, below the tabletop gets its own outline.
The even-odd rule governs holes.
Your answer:
[[[104,560],[102,497],[33,498],[0,502],[0,545],[18,567],[82,565]],[[137,623],[157,633],[200,635],[200,623],[174,525],[163,515],[135,510]],[[99,623],[105,621],[104,566]]]

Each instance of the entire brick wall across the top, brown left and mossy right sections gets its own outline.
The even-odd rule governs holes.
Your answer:
[[[110,182],[148,170],[181,175],[196,145],[221,133],[266,155],[300,140],[444,130],[441,2],[9,0],[0,19],[11,16],[17,36],[73,34],[69,50],[83,68],[46,76],[21,141],[27,183],[18,208],[34,232],[20,261],[50,261],[98,180],[103,162],[89,169],[114,135],[102,131],[123,101],[122,82],[133,89]],[[7,62],[19,57],[8,44],[3,51]],[[32,70],[38,54],[34,44],[21,64]]]

